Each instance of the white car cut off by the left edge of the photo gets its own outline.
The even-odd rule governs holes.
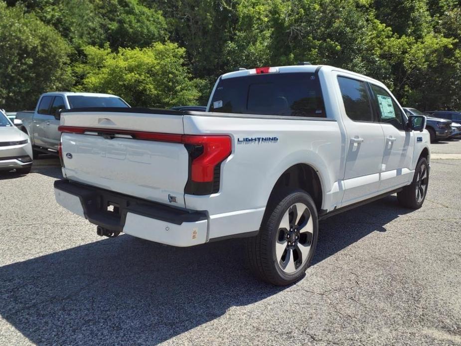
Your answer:
[[[14,125],[21,126],[22,122],[12,122],[0,110],[0,170],[27,174],[32,167],[32,146],[29,136]]]

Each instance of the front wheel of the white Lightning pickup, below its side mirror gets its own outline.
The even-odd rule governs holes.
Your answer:
[[[397,192],[399,203],[407,208],[419,209],[423,206],[429,186],[429,165],[426,158],[421,158],[416,165],[415,175],[410,185]]]

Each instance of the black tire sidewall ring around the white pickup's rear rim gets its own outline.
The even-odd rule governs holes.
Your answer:
[[[310,215],[313,218],[312,222],[312,245],[311,245],[311,250],[309,253],[309,257],[307,258],[307,261],[300,267],[298,270],[292,274],[287,274],[285,273],[279,266],[279,263],[277,261],[277,256],[276,256],[276,251],[275,251],[275,243],[278,235],[279,228],[278,226],[280,225],[280,222],[282,221],[282,218],[284,214],[287,212],[288,208],[291,207],[295,203],[303,203],[307,206],[307,208],[310,211]],[[287,282],[293,282],[296,280],[299,280],[301,277],[305,275],[306,269],[310,264],[310,261],[312,260],[312,257],[315,253],[315,247],[317,245],[317,238],[318,238],[318,215],[317,215],[317,209],[315,207],[315,203],[312,200],[312,198],[304,191],[302,190],[296,190],[291,193],[289,193],[280,203],[277,204],[277,206],[282,205],[282,208],[279,209],[279,215],[275,218],[275,223],[272,225],[272,229],[270,230],[270,237],[269,237],[269,246],[272,249],[272,263],[274,270],[276,271],[277,276],[279,276],[282,280],[287,281]],[[274,208],[276,209],[276,208]],[[280,211],[281,210],[281,211]],[[275,212],[275,211],[273,211]]]

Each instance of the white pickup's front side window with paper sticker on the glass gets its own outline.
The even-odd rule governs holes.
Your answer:
[[[391,124],[399,130],[405,130],[402,112],[391,95],[383,88],[370,84],[374,94],[374,103],[378,110],[379,120]]]

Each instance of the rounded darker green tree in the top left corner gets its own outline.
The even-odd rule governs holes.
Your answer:
[[[31,109],[41,93],[68,90],[70,51],[54,28],[0,1],[0,107]]]

